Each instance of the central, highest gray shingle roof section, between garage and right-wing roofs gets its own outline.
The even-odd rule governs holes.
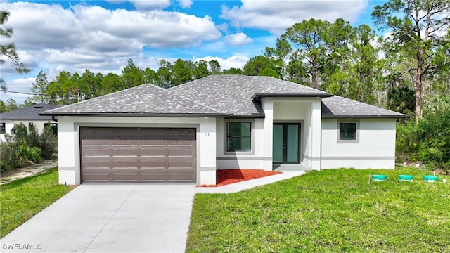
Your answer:
[[[331,96],[329,93],[274,77],[212,75],[174,86],[171,93],[235,116],[262,113],[258,96]],[[256,95],[256,96],[255,96]]]

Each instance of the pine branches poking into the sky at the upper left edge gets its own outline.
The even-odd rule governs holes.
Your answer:
[[[8,22],[11,13],[6,10],[0,10],[0,38],[11,38],[13,36],[13,28],[5,25]],[[7,44],[1,43],[4,39],[0,39],[0,65],[6,63],[4,57],[8,59],[11,63],[13,63],[13,67],[19,73],[30,72],[30,69],[25,67],[25,65],[20,62],[20,57],[18,53],[15,51],[15,44],[13,42],[9,42]],[[3,79],[0,79],[0,84],[3,84]]]

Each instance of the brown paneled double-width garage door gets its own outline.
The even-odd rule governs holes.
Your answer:
[[[80,127],[83,183],[195,183],[195,129]]]

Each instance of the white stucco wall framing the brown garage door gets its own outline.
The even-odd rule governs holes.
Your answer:
[[[79,126],[195,127],[197,129],[197,183],[216,183],[216,119],[169,117],[58,117],[59,183],[80,181]]]

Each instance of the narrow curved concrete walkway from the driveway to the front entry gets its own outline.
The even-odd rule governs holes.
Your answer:
[[[304,171],[283,171],[281,174],[273,176],[264,176],[259,179],[252,179],[248,181],[242,181],[239,183],[231,183],[226,186],[219,187],[197,187],[195,193],[238,193],[241,190],[247,190],[256,186],[264,186],[269,183],[275,183],[284,179],[291,179],[295,176],[301,176]]]

